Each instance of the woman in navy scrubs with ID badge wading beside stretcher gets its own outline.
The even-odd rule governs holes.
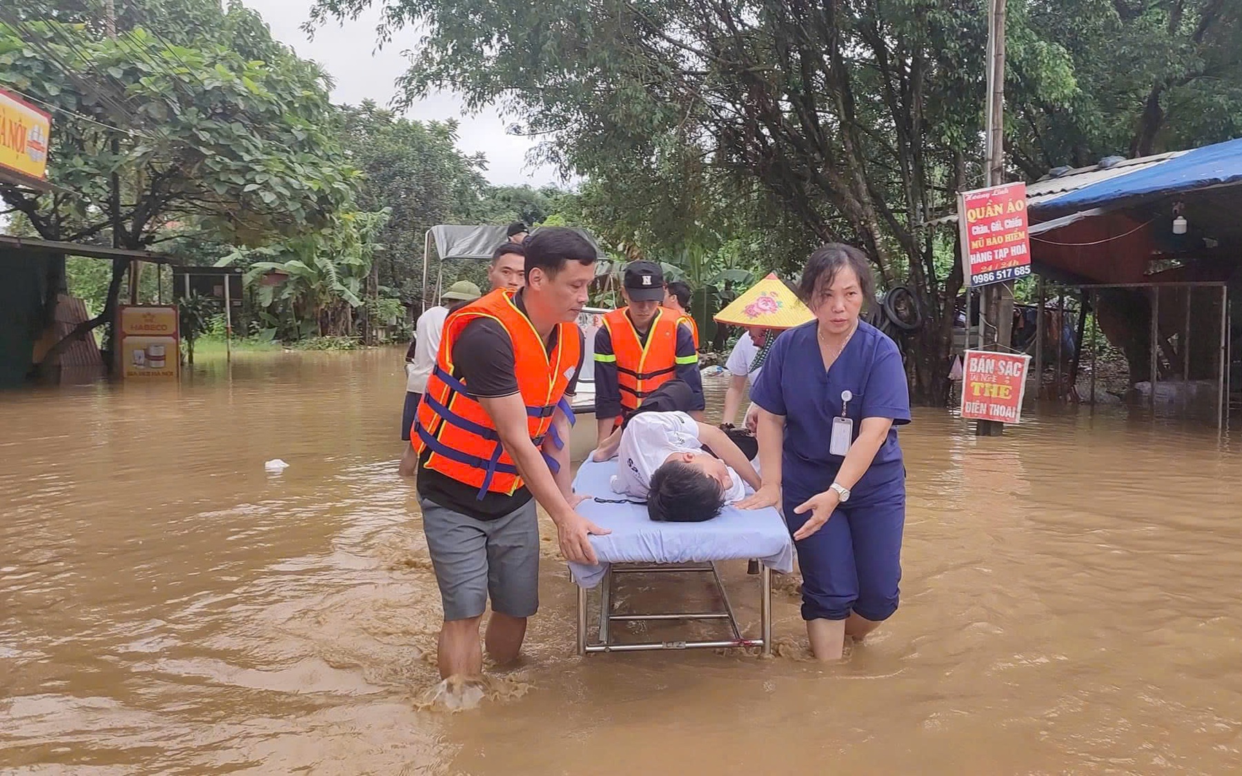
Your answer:
[[[859,320],[871,264],[851,246],[811,255],[799,296],[815,320],[773,344],[751,390],[763,487],[741,507],[780,504],[802,570],[811,651],[840,659],[897,611],[905,467],[894,426],[910,421],[897,345]]]

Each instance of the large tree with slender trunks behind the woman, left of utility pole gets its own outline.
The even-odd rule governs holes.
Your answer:
[[[320,0],[313,19],[369,4]],[[974,4],[385,5],[391,25],[426,30],[405,78],[410,97],[451,86],[472,106],[499,99],[550,138],[548,158],[579,174],[628,165],[642,175],[672,145],[686,164],[719,170],[727,200],[759,184],[756,210],[797,223],[801,245],[862,243],[882,282],[908,277],[929,310],[917,387],[944,399],[961,278],[936,277],[917,226],[950,201],[979,132],[982,68],[963,56],[982,51]]]

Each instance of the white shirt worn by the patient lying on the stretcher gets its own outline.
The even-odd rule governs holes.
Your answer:
[[[698,423],[684,412],[640,412],[630,418],[617,446],[617,473],[610,484],[614,493],[647,498],[651,474],[673,453],[708,454],[698,440]],[[733,485],[724,494],[728,504],[746,497],[746,483],[732,468]]]

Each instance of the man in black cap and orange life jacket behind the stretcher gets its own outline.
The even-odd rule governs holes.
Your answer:
[[[660,264],[630,262],[621,293],[626,307],[604,315],[595,335],[595,418],[597,446],[638,408],[643,397],[673,377],[691,386],[691,415],[702,420],[703,380],[694,335],[682,317],[661,307],[664,273]]]

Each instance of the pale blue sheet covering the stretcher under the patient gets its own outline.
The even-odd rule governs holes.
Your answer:
[[[574,490],[606,499],[621,498],[609,487],[616,459],[586,461],[574,477]],[[725,507],[705,523],[656,523],[646,504],[602,504],[586,500],[578,513],[601,528],[606,536],[591,536],[600,562],[595,566],[569,564],[574,581],[595,587],[609,564],[686,564],[709,560],[758,557],[764,565],[789,574],[794,570],[794,544],[785,520],[774,508],[744,510]]]

